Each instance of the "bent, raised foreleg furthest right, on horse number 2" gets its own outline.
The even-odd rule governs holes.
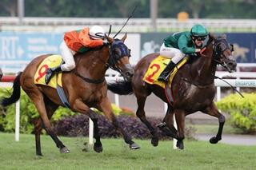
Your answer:
[[[222,115],[222,113],[218,112],[218,109],[214,104],[214,102],[211,103],[211,105],[208,106],[205,110],[203,110],[202,113],[206,113],[206,114],[209,114],[210,116],[218,118],[219,125],[218,125],[217,135],[210,138],[211,144],[217,144],[218,140],[222,140],[222,130],[225,124],[225,117]]]

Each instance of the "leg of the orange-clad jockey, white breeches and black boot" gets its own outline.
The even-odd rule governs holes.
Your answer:
[[[66,45],[66,42],[62,42],[60,45],[60,51],[62,54],[62,59],[65,62],[62,65],[59,65],[57,67],[49,68],[46,71],[46,84],[50,82],[51,77],[54,76],[55,73],[61,72],[61,71],[70,71],[74,69],[75,62],[74,62],[74,51],[69,49]]]

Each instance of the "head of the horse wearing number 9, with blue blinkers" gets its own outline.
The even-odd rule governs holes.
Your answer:
[[[124,44],[127,34],[119,39],[110,38],[106,36],[107,41],[110,43],[110,57],[108,64],[111,69],[114,69],[122,74],[126,81],[131,81],[134,75],[134,69],[130,65],[130,49]]]

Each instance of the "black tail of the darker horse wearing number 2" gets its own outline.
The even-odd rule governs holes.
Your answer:
[[[134,90],[131,85],[131,81],[117,81],[115,83],[110,83],[107,85],[107,89],[109,89],[113,93],[117,93],[120,95],[127,95],[134,93]]]

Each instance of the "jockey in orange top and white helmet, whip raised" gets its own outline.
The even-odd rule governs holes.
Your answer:
[[[64,40],[60,45],[60,52],[65,63],[58,67],[49,68],[46,71],[46,84],[50,82],[50,78],[54,73],[61,71],[71,71],[75,67],[74,54],[84,53],[89,49],[105,45],[106,40],[103,40],[105,31],[101,26],[86,27],[83,30],[74,30],[64,34]]]

